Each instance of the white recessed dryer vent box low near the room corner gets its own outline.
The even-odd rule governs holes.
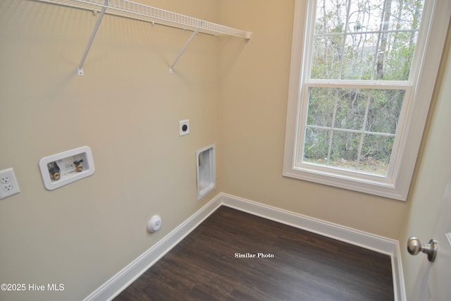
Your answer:
[[[199,149],[196,152],[197,163],[197,199],[201,199],[216,188],[215,145]]]

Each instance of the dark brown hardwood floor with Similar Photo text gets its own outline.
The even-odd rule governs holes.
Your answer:
[[[388,255],[220,207],[114,300],[393,296]]]

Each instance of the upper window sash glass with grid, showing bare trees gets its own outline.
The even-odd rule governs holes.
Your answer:
[[[408,80],[423,6],[424,0],[316,1],[310,77]]]

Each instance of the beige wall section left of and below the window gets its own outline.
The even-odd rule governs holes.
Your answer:
[[[405,202],[282,176],[295,1],[230,0],[220,5],[226,19],[253,32],[240,52],[232,42],[220,47],[225,192],[397,238]]]

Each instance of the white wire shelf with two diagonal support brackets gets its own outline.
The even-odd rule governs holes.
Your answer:
[[[225,25],[220,25],[216,23],[211,23],[205,20],[192,18],[189,16],[181,15],[180,13],[173,13],[171,11],[165,11],[160,8],[155,8],[152,6],[147,6],[133,1],[128,0],[34,0],[39,2],[46,2],[51,4],[58,4],[62,6],[70,6],[75,8],[82,8],[89,11],[100,11],[99,17],[97,17],[97,23],[94,26],[91,37],[89,37],[89,42],[85,49],[85,53],[82,56],[80,64],[77,68],[77,74],[83,75],[83,64],[89,49],[94,41],[94,37],[99,29],[100,23],[104,14],[110,14],[114,16],[123,16],[126,18],[132,18],[135,20],[142,20],[152,24],[166,25],[171,27],[180,28],[183,30],[193,30],[193,33],[188,39],[187,43],[183,47],[180,54],[175,58],[171,66],[169,67],[169,72],[173,73],[173,68],[175,63],[177,63],[180,56],[185,52],[186,48],[192,41],[198,32],[202,32],[208,35],[231,35],[235,37],[242,37],[244,39],[250,39],[252,32],[245,30],[237,30],[233,27],[228,27]]]

